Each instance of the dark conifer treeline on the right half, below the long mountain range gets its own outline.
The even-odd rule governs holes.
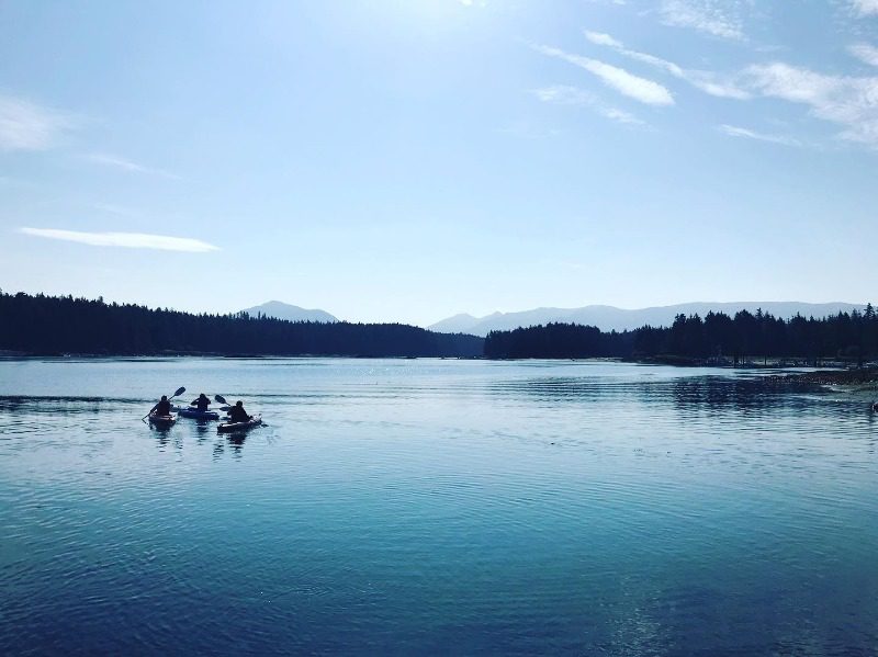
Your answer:
[[[862,362],[878,355],[878,317],[871,306],[863,313],[838,313],[806,319],[781,319],[757,310],[677,315],[671,327],[644,326],[608,333],[593,326],[549,324],[511,331],[492,331],[485,339],[488,358],[655,358],[679,356],[735,364],[758,359],[819,362],[848,359]]]

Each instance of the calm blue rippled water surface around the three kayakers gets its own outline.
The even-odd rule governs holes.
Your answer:
[[[877,442],[729,371],[4,361],[0,654],[875,655]]]

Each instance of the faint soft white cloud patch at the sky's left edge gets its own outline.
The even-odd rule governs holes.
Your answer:
[[[0,150],[48,150],[70,127],[72,121],[60,112],[0,95]]]

